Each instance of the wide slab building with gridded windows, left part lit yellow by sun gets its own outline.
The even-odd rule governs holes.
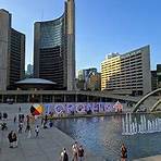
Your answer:
[[[125,95],[151,91],[150,47],[108,57],[101,63],[101,90]]]

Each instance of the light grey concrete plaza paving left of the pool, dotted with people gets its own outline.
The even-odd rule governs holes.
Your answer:
[[[22,107],[22,113],[27,113],[30,104]],[[18,134],[18,147],[9,148],[8,134],[11,129],[17,132],[17,123],[13,123],[13,117],[18,112],[18,104],[0,104],[1,112],[9,113],[8,131],[0,131],[0,161],[60,161],[60,153],[65,147],[72,160],[72,144],[75,141],[66,134],[55,127],[40,128],[39,137],[35,137],[35,126],[40,125],[37,120],[32,124],[32,138],[27,138],[27,133]],[[85,148],[86,161],[103,161],[101,157],[96,157]]]

